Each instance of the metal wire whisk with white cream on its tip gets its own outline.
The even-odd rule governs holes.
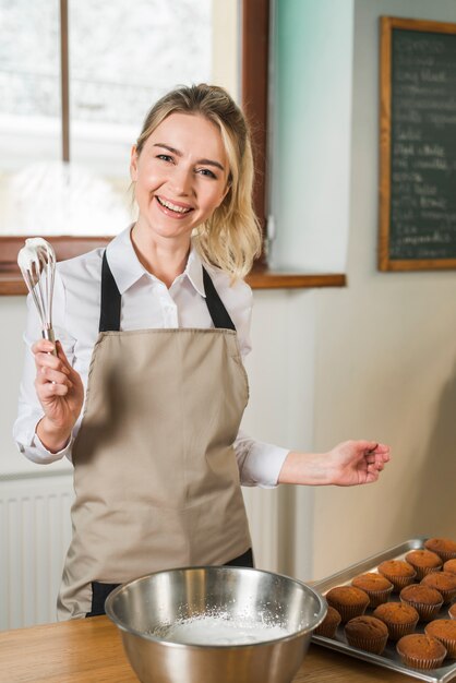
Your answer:
[[[38,311],[43,337],[55,342],[52,329],[52,296],[56,273],[56,253],[45,239],[32,237],[17,254],[22,277]],[[53,351],[57,355],[57,351]]]

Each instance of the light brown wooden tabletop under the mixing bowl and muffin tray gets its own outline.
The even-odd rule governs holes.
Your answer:
[[[411,683],[311,645],[293,683]],[[107,616],[0,632],[0,683],[137,683]],[[202,681],[202,683],[204,683]]]

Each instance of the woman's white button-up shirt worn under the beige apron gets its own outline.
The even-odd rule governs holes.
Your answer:
[[[137,260],[130,230],[131,228],[123,230],[107,247],[109,267],[122,297],[120,328],[213,327],[205,302],[202,263],[197,252],[191,250],[184,272],[168,289]],[[56,338],[61,342],[85,388],[92,351],[98,337],[103,252],[103,248],[95,249],[75,259],[61,261],[57,264],[56,272],[52,305]],[[251,350],[252,291],[240,280],[230,286],[229,277],[220,269],[208,265],[205,267],[235,323],[240,352],[245,357]],[[35,433],[36,424],[44,412],[35,392],[36,368],[31,347],[41,336],[41,329],[31,296],[27,297],[27,326],[24,334],[27,352],[19,414],[14,423],[14,440],[19,450],[35,463],[52,463],[62,457],[71,460],[71,447],[81,427],[83,411],[74,426],[70,443],[59,453],[50,453]],[[243,486],[276,486],[287,450],[255,441],[242,432],[239,432],[233,445]]]

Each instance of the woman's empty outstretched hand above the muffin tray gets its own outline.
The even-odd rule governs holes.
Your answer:
[[[389,446],[375,441],[345,441],[329,451],[327,458],[331,483],[372,483],[389,460]]]

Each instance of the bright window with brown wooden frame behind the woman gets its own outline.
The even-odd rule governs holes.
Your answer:
[[[56,206],[56,196],[59,194],[56,183],[64,182],[64,175],[52,176],[50,173],[48,178],[44,180],[41,178],[43,182],[47,181],[47,184],[41,185],[46,188],[46,192],[37,193],[44,203],[41,215],[48,216],[49,227],[52,227],[51,224],[53,224],[53,230],[50,231],[53,235],[51,241],[56,247],[58,257],[65,259],[107,243],[109,241],[107,236],[113,235],[118,229],[124,227],[125,221],[128,223],[128,206],[125,202],[122,206],[119,196],[123,196],[123,199],[127,196],[125,188],[122,188],[121,175],[125,171],[124,155],[125,153],[129,154],[131,141],[137,134],[137,120],[144,117],[154,99],[169,89],[168,84],[173,83],[175,80],[178,82],[185,82],[185,79],[189,79],[190,82],[212,80],[211,73],[207,71],[207,52],[213,43],[219,43],[219,40],[213,40],[211,35],[213,13],[226,12],[228,5],[218,2],[218,0],[197,0],[197,2],[195,0],[180,0],[180,14],[177,16],[177,1],[170,3],[168,0],[155,0],[154,2],[152,0],[139,0],[136,3],[130,3],[130,7],[128,0],[116,0],[109,4],[101,0],[93,0],[92,2],[70,0],[69,3],[67,0],[61,0],[60,4],[63,13],[68,7],[70,45],[75,46],[74,53],[70,52],[69,118],[71,125],[70,135],[67,134],[67,155],[69,152],[72,161],[74,160],[76,165],[80,163],[81,168],[84,169],[79,178],[80,196],[84,197],[87,212],[92,212],[93,216],[97,203],[103,197],[105,215],[110,216],[110,221],[107,225],[103,224],[101,218],[92,221],[92,225],[99,226],[96,235],[91,233],[87,229],[84,230],[84,237],[81,237],[80,226],[74,225],[72,228],[70,225],[71,229],[68,230],[68,221],[65,220],[68,233],[59,236],[56,230],[58,232],[58,226],[62,223],[61,216],[67,209],[65,201],[68,200],[65,200],[64,193],[61,193],[63,205]],[[236,4],[232,0],[230,7]],[[257,175],[255,207],[263,225],[265,213],[268,4],[268,0],[241,0],[240,2],[242,45],[239,51],[242,62],[242,104],[248,117],[253,122]],[[0,172],[3,172],[3,188],[5,187],[4,173],[14,171],[14,165],[20,166],[21,155],[23,155],[22,160],[24,160],[25,154],[28,155],[28,160],[38,164],[43,164],[43,159],[45,159],[45,163],[50,164],[50,166],[53,164],[58,167],[60,163],[60,117],[62,116],[64,121],[68,113],[65,113],[64,103],[63,115],[60,113],[60,74],[51,55],[57,49],[56,36],[58,36],[59,43],[60,38],[62,39],[62,55],[64,55],[65,22],[61,22],[60,25],[59,8],[56,5],[57,0],[39,0],[35,3],[29,3],[26,0],[17,0],[15,3],[0,0],[0,10],[3,17],[7,17],[7,23],[8,21],[10,24],[14,21],[17,22],[17,15],[15,17],[14,13],[22,11],[27,17],[26,28],[39,37],[35,48],[39,55],[29,48],[25,50],[22,47],[21,49],[21,39],[16,46],[10,45],[9,55],[8,46],[0,48],[0,84],[3,81],[4,85],[7,79],[10,79],[10,83],[11,79],[14,79],[15,83],[13,88],[3,88],[12,92],[3,107],[0,105],[0,117],[2,117],[0,121],[3,124],[0,144],[3,149],[8,148],[9,141],[11,144],[11,127],[17,127],[19,118],[22,119],[20,139],[23,142],[22,148],[14,145],[14,148],[10,148],[7,155],[1,155],[7,158],[7,168],[0,168]],[[152,41],[153,33],[144,27],[144,19],[141,21],[141,11],[151,13],[152,5],[155,5],[153,13],[155,39],[161,55],[159,63],[157,63],[157,59],[154,58],[152,48],[149,49],[147,44],[147,37],[151,37]],[[135,13],[136,10],[140,11],[139,14]],[[64,17],[64,14],[62,16]],[[128,20],[127,26],[125,17]],[[191,61],[189,57],[183,62],[179,62],[177,59],[165,56],[163,46],[169,36],[173,35],[172,28],[170,28],[172,22],[177,22],[178,25],[195,26],[195,33],[185,32],[190,34],[190,39],[193,40],[192,45],[185,49],[185,53],[192,57],[193,75],[187,71]],[[104,26],[101,33],[96,31],[97,26],[100,25]],[[63,28],[63,32],[60,28]],[[154,62],[155,91],[144,86],[139,77],[139,73],[145,69],[144,62],[137,61],[137,53],[140,52],[137,45],[122,40],[123,34],[129,33],[128,29],[130,29],[131,35],[140,36],[139,40],[142,40],[146,46],[145,50],[141,50],[146,62]],[[21,32],[13,31],[13,26],[9,33],[15,39],[17,35],[21,35]],[[45,35],[47,36],[46,40],[43,39]],[[177,35],[181,40],[181,32],[178,32]],[[232,38],[231,43],[235,41],[236,38]],[[226,58],[226,50],[221,57],[220,51],[218,52],[219,64],[226,69],[229,62],[228,69],[235,73],[237,71],[237,51],[235,50],[235,59],[231,62]],[[8,59],[15,60],[15,73],[12,73],[11,63],[8,62]],[[64,60],[62,63],[64,76]],[[31,80],[33,87],[31,87]],[[64,77],[62,81],[64,83]],[[20,108],[13,97],[19,97],[21,93],[27,93],[27,96],[22,98]],[[121,93],[120,96],[119,93]],[[38,144],[33,145],[33,155],[31,155],[32,145],[26,144],[27,135],[34,135],[34,130],[26,123],[27,116],[31,120],[31,112],[35,112],[35,125],[38,127],[39,132],[37,135],[35,131],[34,140],[38,141]],[[39,113],[38,117],[36,112]],[[56,124],[56,121],[59,121],[59,124]],[[63,141],[64,139],[65,134],[63,134]],[[63,144],[64,156],[65,147]],[[8,164],[10,164],[9,168]],[[94,175],[92,176],[89,171]],[[108,176],[109,185],[106,182]],[[22,188],[27,191],[36,192],[32,179],[36,181],[36,172],[29,171],[27,176],[24,171],[22,177],[19,173],[17,182],[22,182]],[[0,206],[4,205],[5,201],[5,197],[0,195]],[[118,224],[115,217],[118,219]],[[32,225],[29,216],[26,217],[25,223]],[[111,226],[115,226],[115,229],[111,229]],[[35,235],[49,235],[49,229],[45,231],[35,228],[39,228],[39,226],[35,224]],[[22,235],[20,232],[21,230],[3,236],[3,231],[0,237],[0,293],[25,291],[16,266],[16,254],[23,244],[24,236],[26,236],[25,231]],[[79,237],[71,237],[71,232],[77,233]],[[260,261],[260,263],[262,262]]]

